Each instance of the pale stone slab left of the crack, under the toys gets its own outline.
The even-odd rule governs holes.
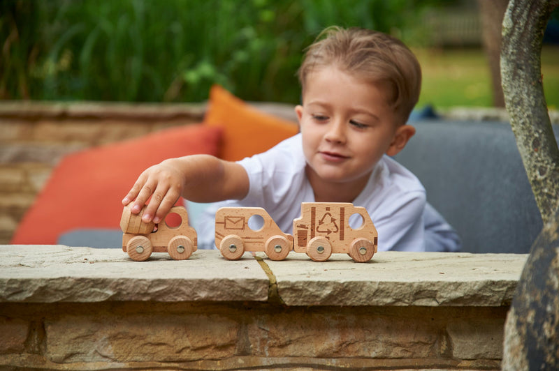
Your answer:
[[[198,250],[187,260],[154,253],[134,262],[121,249],[0,245],[0,303],[266,301],[259,263]]]

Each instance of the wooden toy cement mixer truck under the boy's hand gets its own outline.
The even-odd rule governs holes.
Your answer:
[[[188,224],[187,210],[182,206],[173,206],[169,214],[178,214],[181,222],[177,227],[169,227],[166,221],[157,225],[143,222],[145,208],[133,214],[131,204],[124,206],[120,218],[120,229],[124,232],[122,250],[137,262],[147,260],[152,252],[168,252],[175,260],[188,259],[197,249],[198,235]]]

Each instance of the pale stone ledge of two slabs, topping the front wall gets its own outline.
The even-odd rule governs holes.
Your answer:
[[[0,245],[0,302],[263,302],[275,280],[290,306],[498,307],[510,304],[527,257],[379,252],[358,264],[342,254],[316,263],[292,252],[259,263],[249,253],[231,262],[198,250],[184,261],[159,253],[133,262],[120,249]]]

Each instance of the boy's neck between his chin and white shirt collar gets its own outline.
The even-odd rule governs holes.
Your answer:
[[[355,181],[343,183],[328,182],[320,179],[308,167],[306,173],[314,192],[314,202],[354,202],[354,199],[361,194],[369,181],[369,176],[365,176]]]

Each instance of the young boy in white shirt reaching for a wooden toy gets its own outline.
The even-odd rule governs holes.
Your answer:
[[[165,160],[140,175],[123,204],[136,199],[137,213],[151,196],[143,218],[159,222],[181,195],[231,200],[196,222],[204,245],[213,241],[219,206],[261,206],[291,233],[301,202],[352,202],[368,210],[379,250],[426,250],[425,190],[389,157],[415,133],[406,124],[421,89],[414,54],[384,33],[335,27],[309,47],[298,75],[300,134],[238,162],[205,155]]]

